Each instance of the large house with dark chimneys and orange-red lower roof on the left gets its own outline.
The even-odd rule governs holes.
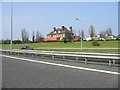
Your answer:
[[[53,28],[53,31],[47,34],[47,38],[44,38],[43,41],[60,41],[63,38],[66,38],[68,40],[73,39],[73,31],[72,27],[67,29],[65,26],[62,26],[61,28]]]

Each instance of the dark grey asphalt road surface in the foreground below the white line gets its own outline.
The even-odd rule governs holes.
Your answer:
[[[118,75],[2,57],[3,88],[118,88]]]

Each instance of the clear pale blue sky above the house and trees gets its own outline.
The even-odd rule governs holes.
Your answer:
[[[77,21],[79,18],[80,21]],[[10,39],[11,2],[2,3],[2,37]],[[118,35],[117,2],[14,2],[13,3],[13,39],[21,39],[21,30],[25,28],[32,38],[33,31],[39,31],[44,37],[53,27],[73,27],[78,34],[83,29],[88,36],[90,25],[99,34],[108,28]]]

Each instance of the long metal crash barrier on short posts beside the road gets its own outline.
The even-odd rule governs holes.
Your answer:
[[[40,59],[45,59],[49,57],[51,60],[55,60],[58,57],[62,60],[73,59],[76,61],[83,60],[85,64],[89,61],[93,62],[106,62],[108,66],[113,66],[120,64],[119,54],[111,53],[85,53],[85,52],[59,52],[59,51],[38,51],[38,50],[0,50],[3,54],[7,55],[18,55],[18,56],[31,56]]]

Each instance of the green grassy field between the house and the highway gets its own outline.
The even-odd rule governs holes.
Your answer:
[[[100,46],[92,46],[91,41],[83,41],[84,52],[118,52],[117,49],[95,49],[95,48],[118,48],[120,41],[99,41]],[[3,49],[9,49],[8,44],[0,45]],[[30,46],[34,49],[42,50],[62,50],[62,51],[81,51],[81,42],[41,42],[41,43],[27,43],[27,44],[13,44],[13,49],[20,49],[22,46]]]

